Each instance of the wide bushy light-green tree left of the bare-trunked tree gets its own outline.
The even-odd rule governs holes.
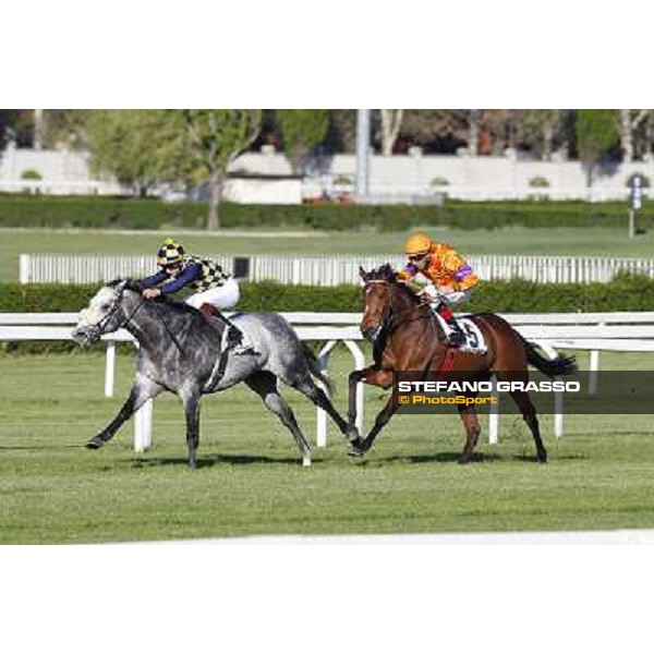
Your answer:
[[[85,124],[96,172],[108,172],[140,195],[180,177],[183,131],[165,109],[100,109]]]

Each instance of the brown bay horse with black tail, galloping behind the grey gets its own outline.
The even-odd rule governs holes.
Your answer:
[[[433,310],[402,283],[389,264],[366,272],[359,270],[363,280],[361,289],[364,308],[361,332],[373,343],[374,363],[370,367],[354,371],[349,376],[348,421],[356,419],[356,384],[363,382],[382,388],[390,388],[393,372],[421,371],[438,373],[445,368],[457,373],[457,379],[488,380],[494,374],[498,380],[526,382],[528,364],[548,377],[571,374],[577,370],[573,356],[557,356],[554,360],[541,355],[534,344],[528,342],[504,318],[493,313],[468,316],[480,328],[487,350],[483,354],[459,352],[448,346],[443,328]],[[476,393],[465,393],[474,397]],[[523,390],[510,391],[524,422],[529,426],[536,446],[538,462],[547,461],[547,451],[541,438],[536,410]],[[392,393],[379,411],[370,434],[361,440],[350,443],[351,456],[363,456],[373,445],[382,428],[388,423],[399,404]],[[465,446],[459,457],[468,463],[481,432],[474,404],[458,404],[459,415],[465,428]]]

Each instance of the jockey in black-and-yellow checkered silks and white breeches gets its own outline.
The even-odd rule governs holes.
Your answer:
[[[186,304],[229,325],[228,344],[235,354],[255,353],[243,344],[243,332],[220,312],[233,307],[240,296],[239,283],[229,272],[209,258],[185,254],[183,245],[173,239],[164,241],[157,263],[160,270],[141,280],[144,298],[153,300],[187,287],[195,293],[185,299]]]

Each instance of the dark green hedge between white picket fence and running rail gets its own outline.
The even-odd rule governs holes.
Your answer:
[[[0,284],[0,312],[77,312],[98,286]],[[242,311],[361,311],[355,286],[302,287],[243,283]],[[610,283],[480,282],[465,311],[498,313],[653,311],[654,280],[620,276]]]

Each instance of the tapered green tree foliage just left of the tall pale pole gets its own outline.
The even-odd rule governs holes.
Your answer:
[[[277,120],[283,152],[293,172],[299,174],[311,152],[319,145],[329,128],[328,109],[279,109]]]

